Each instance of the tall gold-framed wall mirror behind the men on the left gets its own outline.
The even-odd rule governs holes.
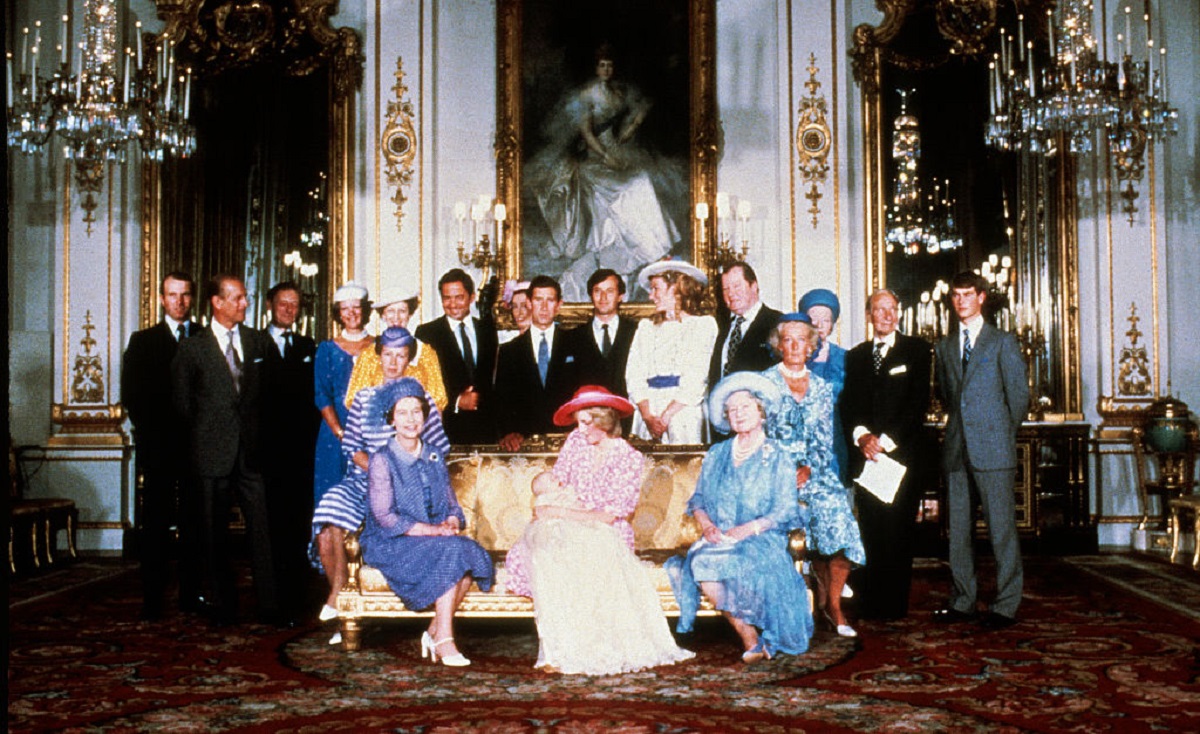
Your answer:
[[[256,326],[270,318],[271,285],[293,281],[299,329],[324,338],[350,258],[353,103],[365,61],[356,34],[329,28],[320,2],[188,0],[160,16],[158,43],[169,40],[176,66],[194,70],[197,146],[148,166],[145,279],[184,270],[203,289],[212,275],[240,275]],[[154,295],[143,288],[143,320],[154,318]]]

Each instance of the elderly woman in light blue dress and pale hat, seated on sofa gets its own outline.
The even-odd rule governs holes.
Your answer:
[[[774,383],[750,372],[713,389],[710,420],[734,435],[709,449],[688,501],[703,537],[686,556],[666,562],[679,602],[678,631],[691,631],[703,594],[738,633],[748,663],[799,655],[812,637],[804,577],[787,552],[788,533],[804,522],[796,464],[763,429],[780,397]]]

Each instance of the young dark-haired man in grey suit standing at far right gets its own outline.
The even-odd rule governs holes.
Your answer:
[[[1000,630],[1016,624],[1021,603],[1013,481],[1016,429],[1028,410],[1030,389],[1016,338],[984,320],[986,291],[986,281],[973,272],[950,281],[958,330],[937,344],[937,378],[948,413],[942,470],[949,492],[954,592],[934,619],[956,622],[976,616],[974,487],[996,556],[996,598],[980,624]]]

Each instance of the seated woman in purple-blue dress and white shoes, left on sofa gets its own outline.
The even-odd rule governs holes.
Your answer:
[[[454,642],[454,615],[472,582],[484,591],[492,588],[492,559],[460,535],[467,519],[450,487],[445,455],[421,440],[430,414],[425,387],[401,378],[380,392],[395,437],[367,465],[371,512],[361,536],[362,558],[383,573],[406,607],[433,607],[433,620],[421,633],[421,657],[469,666]]]

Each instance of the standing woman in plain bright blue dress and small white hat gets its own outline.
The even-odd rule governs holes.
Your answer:
[[[313,399],[320,411],[317,450],[313,457],[313,506],[326,489],[342,480],[342,434],[346,433],[346,389],[354,362],[372,345],[366,331],[371,313],[367,289],[350,282],[334,291],[332,318],[341,332],[317,347],[313,360]]]

